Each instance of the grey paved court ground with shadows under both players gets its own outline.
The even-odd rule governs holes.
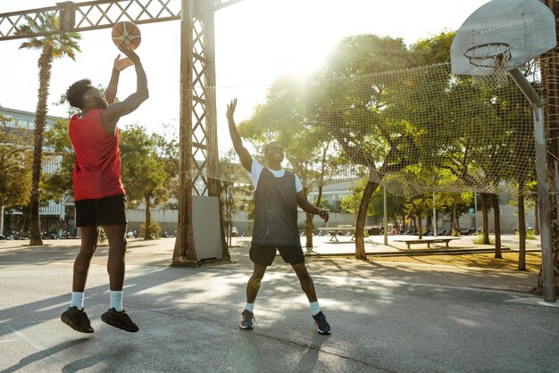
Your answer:
[[[308,256],[330,336],[316,333],[305,295],[280,258],[264,278],[254,330],[238,329],[251,272],[247,238],[234,242],[233,263],[199,269],[169,267],[171,238],[131,240],[124,303],[140,327],[135,334],[100,320],[108,306],[101,246],[86,290],[92,335],[59,319],[79,242],[2,242],[0,370],[559,371],[559,308],[528,292],[536,273],[354,261],[346,259],[349,238],[332,244],[315,237]],[[377,238],[367,252],[406,250]],[[457,245],[471,246],[467,239]],[[513,247],[514,237],[505,245]]]

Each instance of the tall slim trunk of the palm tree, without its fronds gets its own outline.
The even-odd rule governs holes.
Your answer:
[[[39,65],[39,87],[38,87],[38,103],[35,113],[35,143],[33,145],[33,176],[31,179],[31,236],[29,245],[43,245],[41,236],[41,217],[39,215],[39,203],[41,200],[41,190],[39,183],[41,181],[42,158],[43,158],[43,133],[46,124],[46,100],[48,99],[48,86],[51,78],[51,68],[53,63],[52,47],[45,46],[43,52],[38,59]]]

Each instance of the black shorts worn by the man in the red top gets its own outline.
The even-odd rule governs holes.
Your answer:
[[[76,227],[126,225],[126,195],[91,200],[76,204]]]

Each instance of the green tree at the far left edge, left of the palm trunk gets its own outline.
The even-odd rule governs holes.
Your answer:
[[[0,234],[4,234],[4,207],[29,203],[32,139],[28,130],[0,115]]]

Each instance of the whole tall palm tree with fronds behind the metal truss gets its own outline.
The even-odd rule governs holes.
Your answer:
[[[27,23],[17,27],[17,34],[36,35],[53,32],[60,29],[60,19],[55,12],[39,13],[36,18],[25,16]],[[39,182],[42,171],[43,132],[46,124],[46,99],[50,85],[53,61],[63,56],[76,60],[76,52],[80,52],[78,41],[79,33],[67,32],[52,34],[42,37],[29,37],[28,41],[21,43],[20,49],[40,49],[38,59],[38,103],[35,113],[35,142],[33,146],[33,176],[31,181],[31,236],[29,245],[43,245],[39,217],[39,201],[41,191]]]

